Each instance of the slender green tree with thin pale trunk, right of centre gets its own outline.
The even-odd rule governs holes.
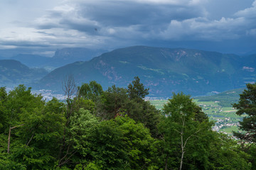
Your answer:
[[[165,169],[168,166],[178,166],[178,169],[183,169],[185,153],[188,152],[193,141],[200,142],[200,136],[210,130],[211,124],[208,118],[198,121],[196,116],[198,106],[193,103],[190,96],[184,94],[174,94],[169,102],[164,105],[164,118],[160,125],[159,131],[163,135],[165,145]],[[201,147],[206,147],[201,145]],[[198,148],[199,149],[199,148]],[[177,160],[174,155],[179,155]],[[177,164],[177,162],[179,162]]]

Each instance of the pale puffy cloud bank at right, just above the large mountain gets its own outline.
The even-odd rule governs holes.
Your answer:
[[[243,18],[221,18],[209,21],[207,18],[193,18],[185,21],[171,21],[168,28],[159,35],[170,40],[234,40],[245,34],[241,29]]]

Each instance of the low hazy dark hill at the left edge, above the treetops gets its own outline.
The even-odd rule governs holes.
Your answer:
[[[16,60],[0,60],[1,86],[17,86],[38,81],[48,72],[45,69],[30,69]]]

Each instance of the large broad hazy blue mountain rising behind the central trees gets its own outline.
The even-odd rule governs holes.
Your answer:
[[[197,96],[255,81],[255,68],[247,60],[255,62],[250,56],[201,50],[127,47],[55,69],[41,79],[38,88],[61,89],[67,74],[73,74],[79,85],[95,80],[105,89],[112,84],[127,86],[139,76],[151,96],[171,96],[180,91]]]

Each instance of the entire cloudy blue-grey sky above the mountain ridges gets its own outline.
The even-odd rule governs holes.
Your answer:
[[[256,0],[1,0],[0,50],[185,47],[256,53]]]

